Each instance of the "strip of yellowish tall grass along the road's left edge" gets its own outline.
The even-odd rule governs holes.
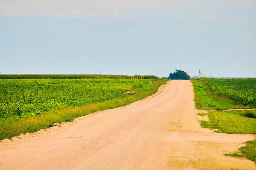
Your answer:
[[[96,111],[103,111],[131,104],[132,102],[154,94],[160,85],[163,85],[166,81],[167,79],[159,79],[156,82],[146,85],[146,87],[135,89],[134,93],[122,99],[112,99],[90,105],[61,109],[45,113],[41,116],[29,116],[20,120],[6,120],[0,125],[0,140],[18,136],[20,133],[33,133],[40,129],[51,127],[54,123],[72,121],[77,117],[85,116]]]

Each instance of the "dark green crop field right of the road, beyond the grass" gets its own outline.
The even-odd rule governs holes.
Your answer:
[[[256,108],[256,79],[202,79],[213,93],[237,104]]]

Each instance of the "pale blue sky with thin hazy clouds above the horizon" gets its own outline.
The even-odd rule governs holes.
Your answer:
[[[1,74],[256,77],[256,0],[0,0]]]

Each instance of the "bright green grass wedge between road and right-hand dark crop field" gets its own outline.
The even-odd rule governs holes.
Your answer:
[[[195,93],[195,107],[201,110],[225,110],[246,108],[242,105],[237,105],[233,100],[225,96],[210,91],[209,87],[201,79],[191,79]]]

